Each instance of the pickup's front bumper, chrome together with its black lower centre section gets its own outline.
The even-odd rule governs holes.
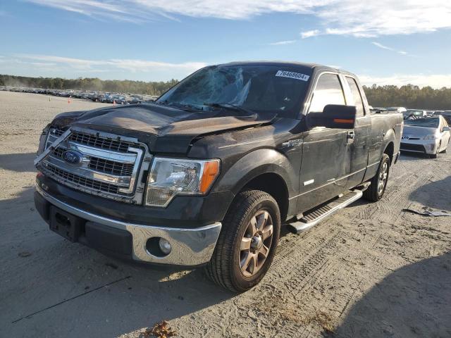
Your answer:
[[[91,245],[95,249],[107,251],[114,256],[130,256],[134,261],[147,263],[189,266],[207,263],[211,259],[221,231],[221,223],[219,222],[202,227],[176,228],[142,225],[106,218],[70,206],[45,192],[39,185],[36,186],[35,204],[37,210],[47,222],[49,221],[50,206],[56,206],[56,208],[86,221],[85,228],[86,230],[90,229],[86,233],[87,236],[95,233],[95,237],[97,237],[95,241],[88,238],[87,244],[99,244],[99,248],[96,248],[96,244]],[[130,245],[127,243],[128,238],[130,238],[128,234],[131,235]],[[147,242],[153,237],[162,237],[171,244],[172,250],[167,256],[155,256],[149,252]],[[112,247],[111,243],[115,243],[115,245]]]

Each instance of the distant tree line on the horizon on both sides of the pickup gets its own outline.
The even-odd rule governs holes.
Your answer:
[[[45,89],[101,90],[133,94],[160,95],[177,84],[178,80],[144,82],[131,80],[100,80],[97,77],[63,79],[61,77],[25,77],[0,75],[0,86]],[[451,110],[451,88],[418,87],[407,84],[397,86],[364,86],[369,104],[373,107],[403,106],[419,109]]]

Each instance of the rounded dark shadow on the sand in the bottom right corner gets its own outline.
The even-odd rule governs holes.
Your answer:
[[[333,337],[451,337],[450,299],[448,252],[404,266],[376,283]]]

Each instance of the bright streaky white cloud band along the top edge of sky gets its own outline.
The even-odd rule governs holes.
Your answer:
[[[179,15],[244,20],[267,13],[318,19],[303,37],[320,34],[378,37],[451,28],[450,0],[27,0],[92,18],[142,22]]]

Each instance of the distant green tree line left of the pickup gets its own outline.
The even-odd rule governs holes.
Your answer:
[[[81,89],[148,95],[160,95],[177,83],[178,80],[144,82],[131,80],[100,80],[97,77],[63,79],[61,77],[0,75],[0,86],[43,89]]]

